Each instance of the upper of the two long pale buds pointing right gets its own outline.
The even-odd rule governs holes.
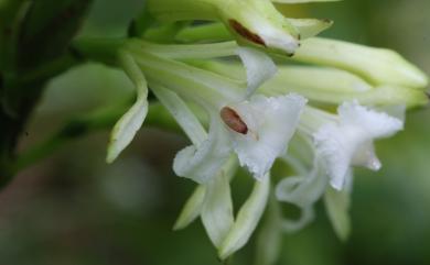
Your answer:
[[[292,59],[355,73],[373,85],[424,88],[427,76],[396,52],[342,41],[313,37],[303,41]]]

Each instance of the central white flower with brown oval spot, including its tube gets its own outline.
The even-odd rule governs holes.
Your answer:
[[[211,118],[207,139],[176,155],[173,169],[179,176],[204,184],[235,151],[240,164],[261,179],[287,148],[305,99],[290,95],[246,100],[275,74],[276,67],[268,56],[251,48],[238,48],[237,54],[247,70],[247,89],[243,81],[154,54],[138,53],[138,62],[151,82],[162,84],[202,106]],[[160,78],[160,74],[170,78]]]

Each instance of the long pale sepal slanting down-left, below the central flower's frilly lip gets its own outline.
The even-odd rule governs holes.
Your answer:
[[[251,195],[240,208],[235,223],[219,247],[221,260],[227,258],[248,242],[265,211],[269,191],[269,175],[261,180],[256,180]]]

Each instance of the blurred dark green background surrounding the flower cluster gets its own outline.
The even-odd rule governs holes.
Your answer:
[[[82,34],[123,35],[141,5],[97,0]],[[430,73],[429,0],[345,0],[291,12],[333,19],[324,35],[397,49]],[[101,65],[67,71],[50,84],[22,146],[69,117],[127,100],[131,91],[121,73]],[[320,203],[312,225],[283,236],[278,264],[430,264],[429,120],[429,109],[410,112],[404,132],[377,144],[384,168],[356,170],[346,243],[335,238]],[[144,128],[109,166],[107,140],[108,132],[99,132],[67,144],[0,194],[0,264],[219,264],[200,222],[171,230],[194,186],[171,170],[186,139]],[[250,265],[252,253],[251,242],[230,264]]]

